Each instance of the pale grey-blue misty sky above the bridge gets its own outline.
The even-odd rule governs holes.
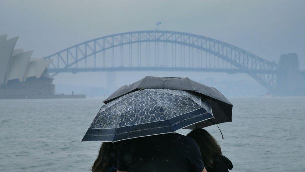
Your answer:
[[[304,69],[304,9],[304,0],[0,0],[0,34],[19,36],[16,48],[34,50],[32,57],[43,57],[108,34],[155,30],[155,23],[161,21],[160,30],[211,37],[270,61],[295,52]],[[73,76],[60,75],[55,83]],[[91,79],[99,77],[92,75]],[[82,85],[82,81],[74,77],[70,82]],[[90,85],[91,81],[86,82]]]

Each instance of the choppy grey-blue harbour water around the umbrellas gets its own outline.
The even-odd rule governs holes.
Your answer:
[[[305,171],[305,97],[230,98],[233,122],[208,127],[232,171]],[[0,171],[88,171],[83,142],[102,99],[0,100]],[[186,131],[181,131],[185,133]]]

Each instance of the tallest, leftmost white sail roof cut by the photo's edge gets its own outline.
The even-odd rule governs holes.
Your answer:
[[[3,39],[3,38],[2,38]],[[6,39],[6,38],[5,38]],[[0,42],[0,84],[5,82],[9,60],[18,37]]]

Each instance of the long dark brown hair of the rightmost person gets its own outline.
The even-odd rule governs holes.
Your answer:
[[[222,155],[219,143],[213,136],[202,128],[196,128],[187,134],[199,146],[204,165],[213,168],[214,158]]]

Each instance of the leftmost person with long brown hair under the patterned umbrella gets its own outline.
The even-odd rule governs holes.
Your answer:
[[[119,142],[103,142],[98,158],[93,163],[92,172],[116,172]]]

